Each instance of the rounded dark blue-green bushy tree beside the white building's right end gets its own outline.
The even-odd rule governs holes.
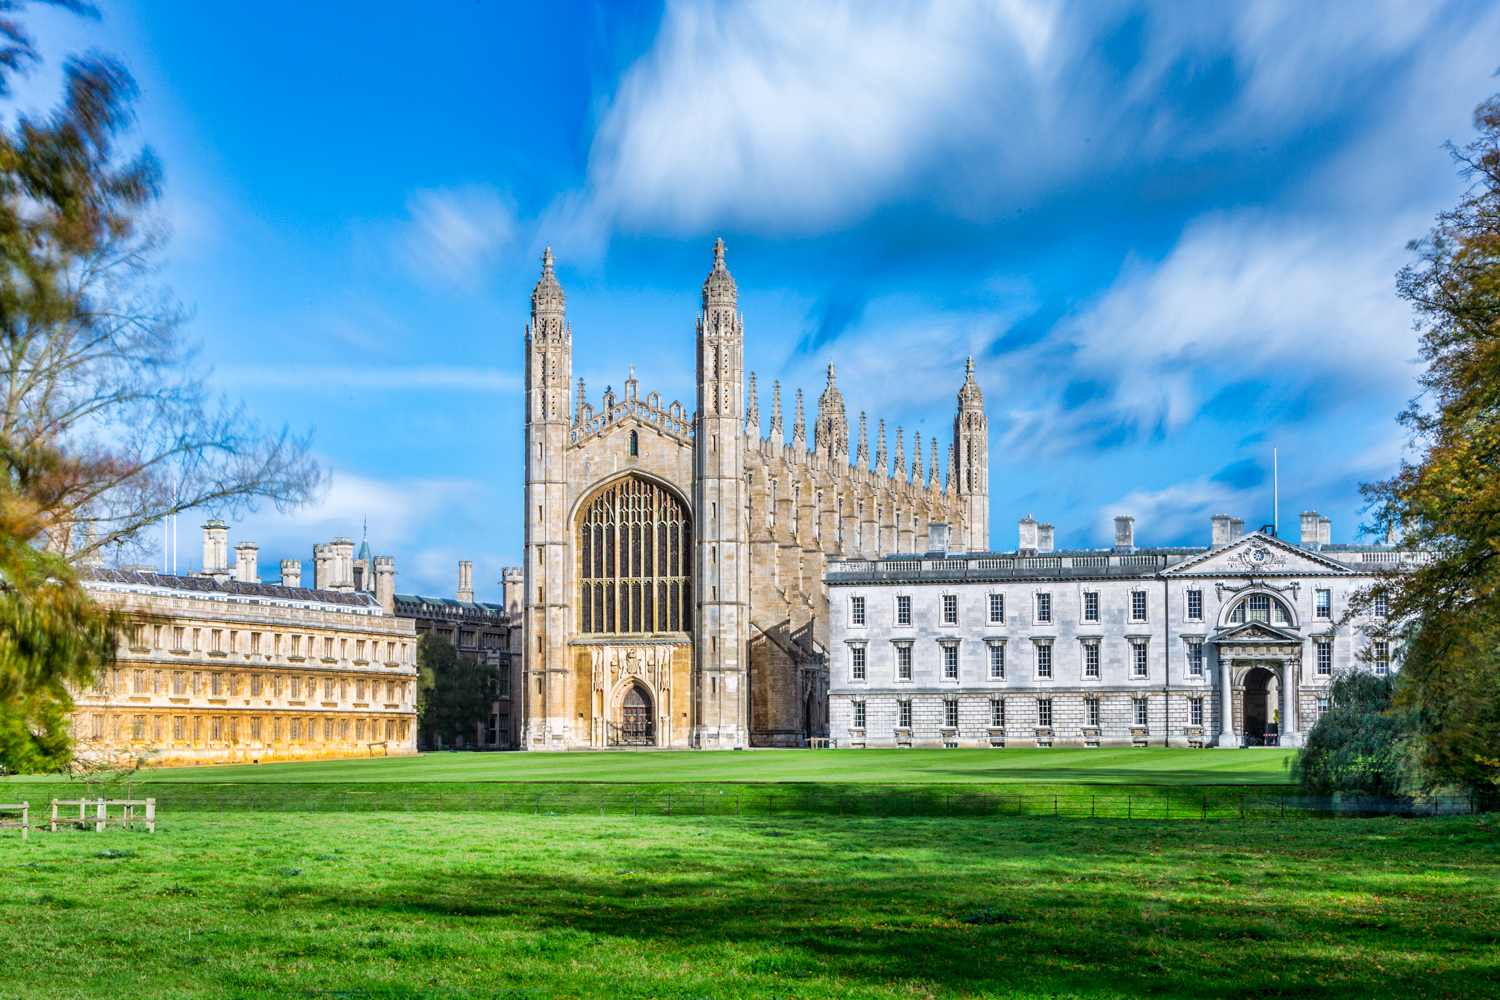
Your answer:
[[[1350,672],[1308,733],[1293,775],[1308,792],[1408,795],[1425,784],[1416,714],[1395,705],[1395,678]]]

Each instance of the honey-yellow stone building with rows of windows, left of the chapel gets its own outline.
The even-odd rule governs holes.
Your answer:
[[[254,547],[220,573],[210,556],[226,534],[206,526],[204,574],[82,571],[123,639],[116,664],[75,693],[75,738],[168,765],[416,753],[411,619],[352,588],[261,583]]]

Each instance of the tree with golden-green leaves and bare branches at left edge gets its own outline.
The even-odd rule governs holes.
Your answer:
[[[94,15],[78,0],[56,6]],[[0,93],[38,58],[0,0]],[[152,280],[160,166],[124,156],[135,82],[88,54],[45,118],[0,126],[0,765],[57,766],[69,688],[114,655],[114,622],[74,570],[165,516],[270,499],[324,477],[308,439],[214,399],[182,309]]]

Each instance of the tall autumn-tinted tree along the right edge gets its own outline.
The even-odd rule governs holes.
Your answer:
[[[1371,631],[1401,649],[1395,705],[1419,711],[1434,780],[1472,789],[1500,757],[1500,97],[1474,126],[1467,147],[1448,145],[1470,189],[1398,276],[1426,361],[1400,415],[1419,457],[1365,487],[1377,528],[1432,558],[1386,573],[1354,607],[1386,597]]]

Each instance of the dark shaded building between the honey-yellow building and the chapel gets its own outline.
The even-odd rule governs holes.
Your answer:
[[[519,654],[520,625],[513,621],[507,606],[520,600],[520,570],[504,571],[506,604],[489,604],[474,600],[474,564],[459,562],[459,588],[456,597],[423,597],[420,594],[396,594],[394,613],[411,619],[417,636],[436,636],[452,643],[459,655],[471,663],[495,667],[495,700],[489,717],[474,726],[472,735],[444,741],[441,735],[418,732],[422,748],[480,748],[514,750],[518,745],[514,711],[514,685],[512,658]]]

